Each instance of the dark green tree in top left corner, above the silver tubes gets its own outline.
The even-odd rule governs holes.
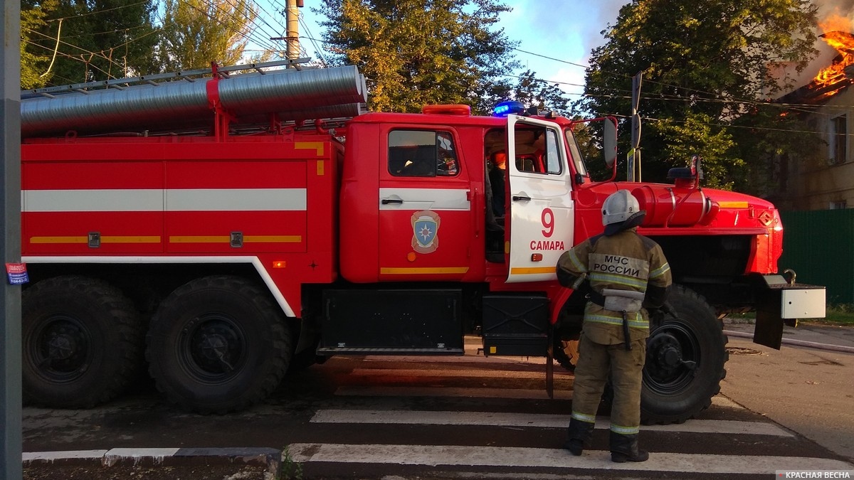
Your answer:
[[[155,66],[155,0],[21,2],[22,20],[24,12],[39,11],[40,18],[26,19],[32,23],[22,28],[24,48],[27,58],[55,57],[51,83],[120,78]]]

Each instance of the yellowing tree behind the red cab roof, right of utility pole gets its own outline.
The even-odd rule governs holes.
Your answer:
[[[366,76],[374,111],[418,112],[466,103],[487,112],[511,90],[515,44],[493,30],[510,8],[497,0],[324,0],[324,39],[333,65]]]

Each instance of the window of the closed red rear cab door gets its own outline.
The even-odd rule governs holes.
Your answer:
[[[389,173],[395,177],[448,177],[458,171],[450,132],[389,132]]]

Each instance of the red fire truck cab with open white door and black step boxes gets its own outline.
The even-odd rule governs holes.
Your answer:
[[[477,299],[536,318],[527,332],[485,332],[488,354],[544,354],[546,295],[559,290],[555,266],[572,245],[570,150],[565,119],[473,117],[456,105],[351,120],[338,243],[340,278],[353,285],[325,291],[322,316],[334,327],[323,329],[319,352],[461,354],[465,333],[484,328],[480,307],[466,307]],[[496,152],[514,159],[500,187],[488,181]],[[494,197],[506,198],[498,214]],[[369,331],[355,321],[379,306],[388,312]]]

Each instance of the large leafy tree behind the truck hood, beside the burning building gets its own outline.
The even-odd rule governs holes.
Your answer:
[[[644,179],[664,180],[670,167],[685,166],[696,153],[704,156],[710,184],[745,184],[734,174],[749,177],[756,159],[774,152],[757,152],[756,138],[736,142],[731,126],[758,100],[791,85],[792,78],[771,74],[777,62],[799,73],[816,55],[815,22],[809,0],[633,0],[603,32],[607,43],[593,51],[580,107],[628,117],[631,77],[642,72]],[[629,130],[621,126],[626,146]],[[757,128],[757,135],[764,132]],[[752,162],[741,160],[747,158]]]

